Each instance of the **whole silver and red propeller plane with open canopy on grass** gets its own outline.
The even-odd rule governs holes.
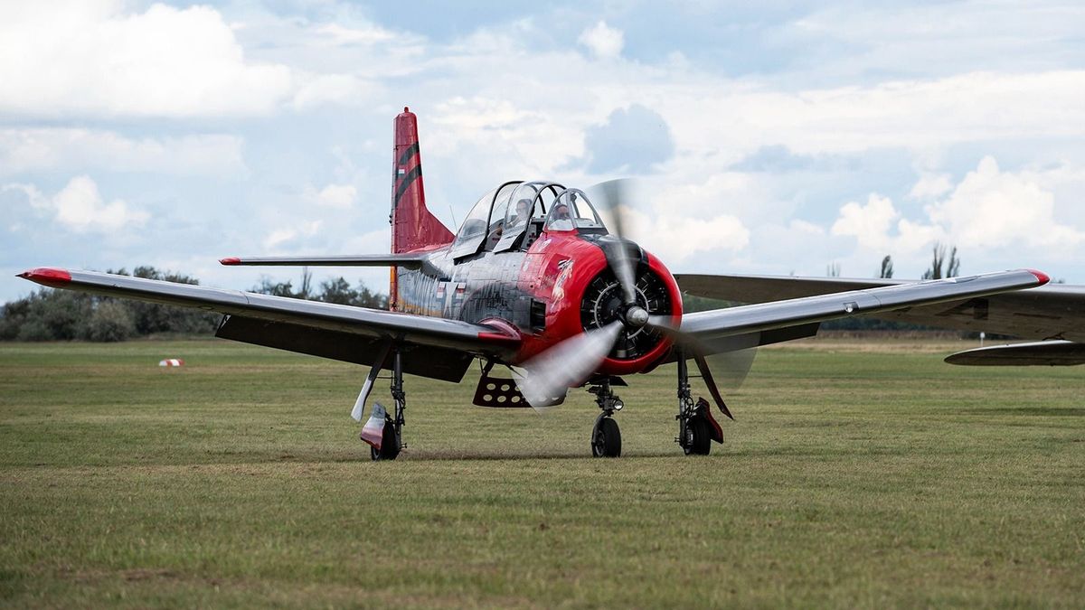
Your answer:
[[[675,276],[622,233],[621,181],[595,194],[550,180],[512,180],[484,194],[452,233],[425,205],[418,119],[394,122],[390,254],[239,257],[224,265],[384,266],[388,310],[40,267],[37,283],[222,314],[215,335],[370,367],[352,409],[361,421],[378,376],[391,371],[392,408],[375,403],[359,434],[373,460],[404,447],[404,374],[459,382],[473,361],[482,374],[473,403],[547,407],[587,387],[599,416],[591,455],[617,457],[614,416],[623,377],[676,363],[678,434],[687,455],[723,442],[710,403],[693,399],[692,360],[716,408],[733,419],[709,358],[814,335],[820,322],[907,307],[981,298],[1048,282],[1010,270],[686,314]],[[592,202],[595,199],[595,203]],[[597,209],[596,205],[599,205]],[[609,212],[611,227],[599,211]],[[679,276],[681,277],[681,276]],[[494,374],[508,368],[512,377]]]

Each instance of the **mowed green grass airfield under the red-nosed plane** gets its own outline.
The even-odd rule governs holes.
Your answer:
[[[3,344],[0,603],[1081,607],[1085,370],[959,347],[763,350],[709,457],[673,442],[673,367],[622,389],[614,460],[583,391],[539,416],[408,378],[409,446],[373,463],[361,367]]]

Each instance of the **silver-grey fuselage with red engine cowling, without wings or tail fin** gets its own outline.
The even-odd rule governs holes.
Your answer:
[[[520,338],[507,364],[516,365],[574,334],[612,321],[621,306],[603,244],[636,251],[638,300],[653,315],[681,317],[678,285],[663,263],[605,230],[553,230],[541,221],[503,252],[456,256],[455,244],[430,251],[427,270],[397,269],[397,310],[485,322]],[[437,274],[435,270],[439,270]],[[602,374],[651,370],[669,354],[662,335],[624,335],[600,366]]]

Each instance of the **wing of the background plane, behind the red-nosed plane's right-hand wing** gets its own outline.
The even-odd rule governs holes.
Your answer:
[[[765,303],[848,290],[915,284],[907,280],[781,276],[675,276],[684,292],[740,303]],[[1085,342],[1085,287],[1048,284],[1020,292],[957,298],[881,312],[871,317],[1024,339]]]

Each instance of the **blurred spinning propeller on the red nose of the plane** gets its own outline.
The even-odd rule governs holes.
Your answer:
[[[714,342],[709,346],[681,332],[673,325],[669,316],[653,316],[637,302],[638,260],[630,252],[639,249],[625,238],[628,223],[624,212],[635,199],[635,190],[634,182],[628,179],[608,180],[588,189],[592,204],[609,216],[609,228],[616,238],[601,240],[600,245],[622,289],[623,306],[617,319],[602,328],[571,336],[524,363],[524,374],[518,381],[520,392],[536,408],[560,403],[570,387],[579,385],[599,368],[614,348],[623,328],[630,331],[647,328],[665,332],[684,350],[687,357],[695,359],[701,377],[719,409],[733,419],[716,389],[706,358],[712,359],[713,368],[722,371],[722,379],[728,386],[737,387],[753,365],[755,351],[752,347],[757,345],[756,338],[729,338],[725,340],[730,343],[728,345],[717,345]],[[749,344],[741,344],[743,341]],[[720,351],[724,353],[707,357],[702,355]]]

